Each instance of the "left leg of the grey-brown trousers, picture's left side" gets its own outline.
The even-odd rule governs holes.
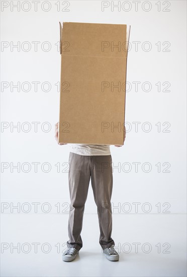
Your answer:
[[[69,194],[70,210],[68,220],[68,247],[82,248],[81,230],[84,205],[90,181],[89,156],[69,154]]]

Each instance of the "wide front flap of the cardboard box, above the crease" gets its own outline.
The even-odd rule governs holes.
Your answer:
[[[126,28],[122,24],[63,22],[62,41],[68,50],[62,55],[126,57]]]

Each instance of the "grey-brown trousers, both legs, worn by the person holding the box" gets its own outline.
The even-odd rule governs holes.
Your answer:
[[[74,247],[77,250],[82,248],[80,233],[90,177],[93,196],[98,207],[99,243],[103,249],[115,245],[111,238],[112,156],[83,156],[70,152],[68,173],[70,209],[67,247]],[[90,234],[90,236],[93,236],[93,234]]]

